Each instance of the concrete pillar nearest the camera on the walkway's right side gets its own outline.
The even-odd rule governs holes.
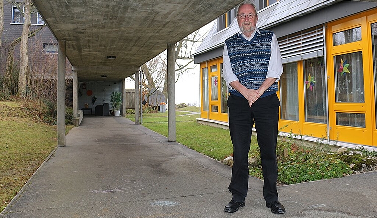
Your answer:
[[[175,64],[176,50],[174,43],[168,43],[168,141],[176,141],[176,91]]]

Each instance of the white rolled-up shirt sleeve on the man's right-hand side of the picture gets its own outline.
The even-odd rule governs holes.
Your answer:
[[[228,58],[229,59],[229,58]],[[271,41],[271,57],[268,64],[268,71],[266,78],[276,78],[275,82],[280,80],[280,76],[283,73],[283,64],[281,61],[281,54],[279,44],[276,39],[276,35],[272,35]]]

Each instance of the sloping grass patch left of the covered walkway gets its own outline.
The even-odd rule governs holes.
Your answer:
[[[54,126],[36,123],[16,102],[0,102],[0,211],[57,146]]]

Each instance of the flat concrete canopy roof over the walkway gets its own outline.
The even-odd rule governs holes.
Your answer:
[[[66,56],[80,81],[116,81],[242,0],[33,2],[56,39],[66,41]]]

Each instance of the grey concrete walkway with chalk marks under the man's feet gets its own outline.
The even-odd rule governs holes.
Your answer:
[[[0,218],[377,218],[377,172],[279,186],[283,215],[251,177],[229,214],[229,166],[126,118],[85,117],[66,141]]]

